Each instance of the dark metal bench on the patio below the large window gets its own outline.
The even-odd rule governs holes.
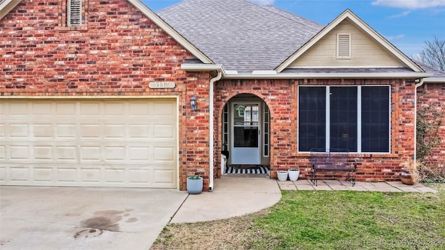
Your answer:
[[[348,149],[311,149],[310,178],[317,185],[317,172],[346,172],[346,181],[355,185],[357,162],[350,159]]]

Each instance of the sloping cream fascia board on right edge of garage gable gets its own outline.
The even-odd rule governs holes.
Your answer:
[[[159,15],[156,15],[152,10],[150,10],[147,6],[145,6],[144,3],[141,3],[138,0],[127,0],[129,1],[134,7],[138,8],[141,12],[143,12],[144,15],[146,15],[149,19],[152,19],[152,21],[163,29],[168,35],[170,35],[173,39],[175,39],[179,44],[181,44],[184,49],[190,51],[193,56],[196,56],[196,58],[200,59],[202,63],[212,63],[213,61],[208,58],[202,51],[197,49],[191,42],[188,42],[186,38],[184,38],[181,34],[179,34],[172,26],[167,24]]]

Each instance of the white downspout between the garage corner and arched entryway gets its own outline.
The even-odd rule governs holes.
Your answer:
[[[209,192],[213,191],[213,120],[214,120],[214,107],[213,107],[213,85],[216,81],[220,80],[221,76],[223,76],[223,72],[218,70],[218,75],[210,79],[209,83]]]

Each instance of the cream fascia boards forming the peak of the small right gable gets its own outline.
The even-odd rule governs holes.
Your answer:
[[[332,29],[338,26],[346,18],[350,19],[350,21],[353,22],[355,25],[359,26],[359,28],[362,28],[362,30],[368,33],[371,36],[371,38],[379,42],[383,47],[385,47],[385,49],[387,49],[390,53],[396,56],[396,58],[405,63],[405,65],[410,67],[410,69],[412,69],[414,72],[423,72],[423,69],[421,69],[419,65],[416,65],[416,63],[414,63],[410,58],[405,56],[405,54],[403,54],[400,50],[394,47],[394,45],[392,45],[385,38],[383,38],[382,35],[374,31],[373,28],[371,28],[371,26],[366,24],[362,19],[357,17],[357,15],[355,15],[350,10],[345,10],[343,13],[339,15],[339,17],[330,22],[330,24],[327,24],[327,26],[325,26],[323,30],[321,30],[318,34],[316,34],[314,38],[312,38],[311,40],[309,40],[309,42],[304,44],[300,49],[298,49],[298,51],[293,53],[292,56],[284,60],[284,62],[281,65],[279,65],[275,70],[277,72],[282,72],[284,69],[286,69],[286,67],[291,65],[293,61],[295,61],[298,57],[300,57],[302,53],[305,53],[307,50],[312,48],[314,44],[316,44],[316,42],[321,40],[321,38],[325,37],[327,33],[332,31]]]

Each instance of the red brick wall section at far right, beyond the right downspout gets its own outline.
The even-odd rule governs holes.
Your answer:
[[[425,83],[417,88],[417,110],[428,107],[442,113],[442,126],[437,128],[441,143],[423,163],[432,168],[445,167],[445,83]]]

